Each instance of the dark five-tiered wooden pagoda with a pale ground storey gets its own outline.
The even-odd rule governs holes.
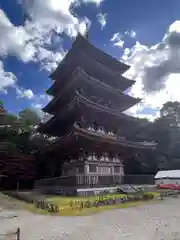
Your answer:
[[[63,163],[61,187],[70,187],[70,178],[77,189],[116,186],[128,155],[155,149],[154,142],[129,137],[138,120],[123,111],[140,99],[124,93],[134,83],[122,76],[128,69],[78,35],[52,73],[53,100],[43,109],[52,117],[38,131],[58,137],[49,148]]]

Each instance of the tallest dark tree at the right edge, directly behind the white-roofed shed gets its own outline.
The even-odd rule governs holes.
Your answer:
[[[156,162],[159,169],[180,168],[180,103],[167,102],[151,129],[157,141]]]

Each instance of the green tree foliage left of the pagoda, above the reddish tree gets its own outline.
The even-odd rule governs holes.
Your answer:
[[[13,150],[15,148],[26,153],[40,149],[49,143],[42,135],[32,137],[35,133],[32,126],[40,121],[38,114],[28,108],[21,111],[19,116],[6,112],[0,117],[0,141],[9,142],[14,146]]]

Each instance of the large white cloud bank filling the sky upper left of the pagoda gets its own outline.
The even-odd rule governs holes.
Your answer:
[[[39,62],[42,68],[52,71],[62,60],[62,47],[52,50],[53,39],[66,33],[75,37],[86,30],[87,18],[78,19],[71,11],[77,0],[56,1],[22,0],[29,18],[24,25],[15,26],[0,9],[0,57],[15,56],[23,62]],[[92,1],[97,4],[98,1]]]

